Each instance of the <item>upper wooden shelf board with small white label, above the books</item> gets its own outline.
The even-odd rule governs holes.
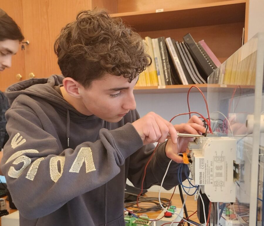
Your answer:
[[[156,13],[136,11],[114,13],[137,32],[199,27],[226,23],[245,22],[246,0],[222,1],[199,5],[178,6]],[[168,23],[165,23],[168,21]]]

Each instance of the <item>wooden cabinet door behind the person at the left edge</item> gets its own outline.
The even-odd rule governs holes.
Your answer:
[[[24,34],[22,0],[1,0],[0,8],[13,18]],[[16,78],[17,74],[22,76],[20,80]],[[25,78],[25,51],[21,50],[20,45],[17,54],[12,57],[11,68],[6,68],[4,71],[0,72],[0,90],[4,91],[9,85],[24,80]]]

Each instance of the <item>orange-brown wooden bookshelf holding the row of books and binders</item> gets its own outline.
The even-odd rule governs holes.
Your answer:
[[[196,42],[204,39],[221,63],[245,42],[248,28],[248,0],[94,0],[92,7],[106,8],[111,17],[121,18],[142,38],[171,37],[183,41],[190,33]],[[134,93],[187,92],[182,85],[135,87]],[[198,85],[207,91],[207,84]]]

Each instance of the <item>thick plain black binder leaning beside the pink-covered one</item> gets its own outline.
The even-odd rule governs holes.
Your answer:
[[[194,41],[190,33],[183,36],[183,40],[186,43],[187,48],[190,54],[192,55],[193,60],[195,61],[195,63],[197,63],[199,68],[204,72],[202,74],[203,79],[207,81],[207,77],[214,72],[214,68],[211,67],[207,59],[204,57],[204,55],[202,54],[201,50],[197,46],[196,42]]]

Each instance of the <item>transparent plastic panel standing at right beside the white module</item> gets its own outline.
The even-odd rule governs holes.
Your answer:
[[[264,220],[263,65],[264,33],[258,33],[208,77],[211,128],[219,137],[237,140],[236,203],[225,204],[223,225],[262,225]]]

